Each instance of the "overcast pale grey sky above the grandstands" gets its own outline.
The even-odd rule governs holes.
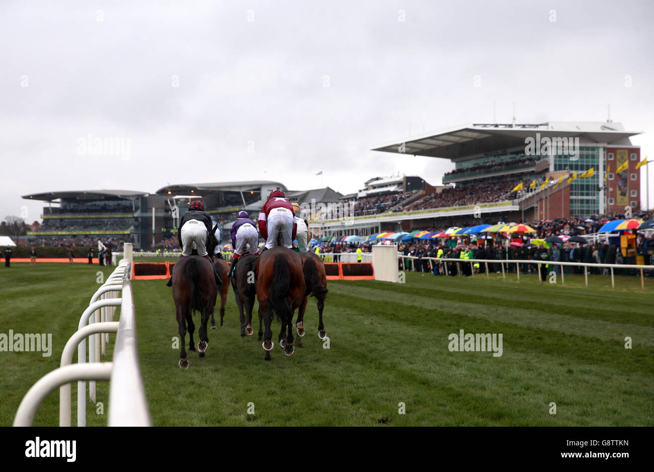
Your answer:
[[[449,161],[370,149],[492,122],[493,102],[528,123],[604,121],[610,104],[654,160],[653,24],[651,0],[3,0],[0,218],[39,220],[20,195],[54,190],[439,184]],[[88,135],[129,156],[84,155]]]

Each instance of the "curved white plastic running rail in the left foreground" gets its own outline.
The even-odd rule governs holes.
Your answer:
[[[80,318],[79,329],[61,354],[61,367],[37,381],[20,403],[14,426],[31,426],[46,396],[60,388],[60,426],[71,426],[71,382],[77,380],[77,426],[86,426],[86,380],[90,401],[95,405],[96,380],[111,380],[109,426],[150,426],[150,416],[141,379],[135,336],[134,299],[131,290],[131,244],[107,281],[95,292]],[[122,292],[122,297],[116,297]],[[120,306],[120,322],[114,312]],[[90,323],[90,324],[89,324]],[[88,324],[88,326],[87,326]],[[100,362],[106,355],[109,333],[116,334],[114,362]],[[89,362],[86,362],[89,337]],[[77,346],[77,364],[71,365]]]

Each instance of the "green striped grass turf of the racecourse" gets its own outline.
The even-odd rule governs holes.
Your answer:
[[[0,426],[12,423],[29,386],[58,367],[100,269],[0,267],[0,332],[51,332],[54,341],[50,358],[0,353]],[[506,281],[501,274],[487,280],[485,274],[407,273],[405,284],[329,282],[330,348],[317,337],[310,299],[304,347],[284,356],[275,323],[271,362],[256,341],[256,311],[254,336],[240,337],[230,290],[224,326],[209,331],[206,358],[189,353],[188,370],[177,367],[179,350],[171,347],[177,324],[164,284],[133,282],[141,369],[156,426],[654,425],[652,280],[645,280],[644,293],[639,278],[627,277],[615,278],[616,290],[610,277],[590,277],[585,288],[583,277],[568,275],[564,286],[539,285],[533,275],[518,284],[515,274]],[[447,336],[459,329],[502,333],[503,355],[450,352]],[[107,421],[107,384],[99,383],[98,392],[104,414],[89,404],[89,426]],[[400,402],[406,414],[398,414]],[[548,413],[551,402],[555,415]],[[58,393],[35,419],[35,425],[56,424]]]

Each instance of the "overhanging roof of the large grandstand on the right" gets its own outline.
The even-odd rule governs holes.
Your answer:
[[[374,151],[462,160],[475,154],[525,146],[526,137],[579,137],[579,143],[630,145],[626,131],[613,122],[546,122],[541,124],[469,124],[383,144]],[[402,146],[404,145],[404,148]]]

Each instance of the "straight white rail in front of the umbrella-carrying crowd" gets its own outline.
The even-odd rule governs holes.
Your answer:
[[[504,264],[507,265],[507,267],[510,264],[515,264],[516,265],[516,273],[518,277],[518,282],[520,282],[520,265],[519,264],[535,264],[537,266],[536,270],[536,275],[538,275],[538,283],[542,284],[542,280],[540,278],[540,266],[549,264],[549,265],[568,265],[572,267],[583,267],[583,275],[585,278],[585,285],[588,287],[588,267],[596,267],[596,268],[606,268],[606,269],[611,269],[611,288],[615,289],[615,278],[613,275],[613,270],[614,269],[623,269],[623,270],[636,270],[640,271],[640,287],[642,290],[645,290],[645,279],[643,275],[644,270],[653,270],[654,265],[634,265],[634,264],[596,264],[596,263],[587,263],[587,262],[558,262],[558,261],[536,261],[536,260],[517,260],[517,259],[456,259],[456,258],[430,258],[430,257],[423,257],[423,258],[417,258],[415,256],[404,256],[401,252],[398,252],[398,260],[400,259],[409,259],[409,260],[428,260],[428,261],[439,261],[439,262],[449,262],[449,263],[456,263],[456,271],[457,275],[460,275],[460,264],[462,263],[470,263],[470,267],[473,268],[473,264],[475,263],[483,263],[485,265],[485,271],[486,271],[486,277],[489,278],[489,264],[500,264],[502,266],[502,276],[504,277],[504,280],[506,280],[506,271],[504,270]],[[403,267],[404,267],[404,261]],[[443,264],[443,270],[445,271],[445,275],[449,275],[447,273],[447,264]],[[480,272],[481,272],[481,267],[480,267]],[[561,283],[564,285],[566,283],[565,280],[565,274],[564,271],[560,271],[560,274],[557,274],[561,276]],[[472,270],[472,277],[474,277],[474,270]]]

